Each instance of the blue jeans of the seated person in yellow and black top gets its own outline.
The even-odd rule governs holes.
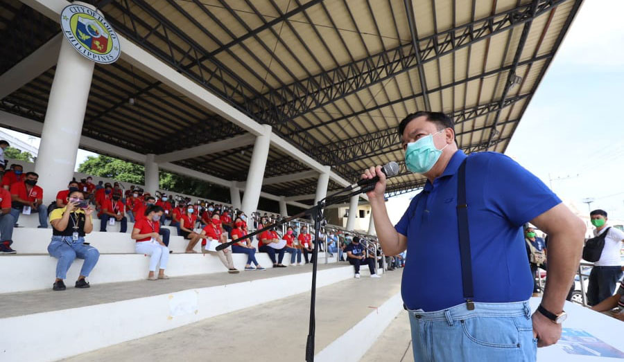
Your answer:
[[[58,259],[56,263],[56,278],[67,278],[67,271],[69,271],[69,267],[76,257],[85,260],[83,268],[80,269],[80,275],[89,276],[89,273],[91,273],[100,258],[100,253],[98,249],[84,245],[83,242],[85,242],[84,237],[78,237],[76,242],[73,242],[71,236],[52,237],[52,241],[48,245],[48,253]]]

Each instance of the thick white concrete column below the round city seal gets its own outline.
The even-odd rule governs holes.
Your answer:
[[[46,205],[73,177],[93,69],[94,62],[78,54],[63,38],[35,162]]]

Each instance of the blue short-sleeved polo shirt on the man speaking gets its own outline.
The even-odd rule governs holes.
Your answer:
[[[528,300],[533,281],[522,226],[561,200],[508,156],[458,151],[442,175],[411,201],[397,232],[408,239],[401,293],[409,309],[465,302],[457,226],[457,171],[464,159],[476,302]]]

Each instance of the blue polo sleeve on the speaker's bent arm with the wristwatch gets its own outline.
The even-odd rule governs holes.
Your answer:
[[[487,155],[485,202],[499,210],[510,224],[519,227],[561,203],[554,192],[516,161],[503,154]]]

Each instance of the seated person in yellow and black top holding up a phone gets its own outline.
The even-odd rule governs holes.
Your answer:
[[[69,194],[67,206],[51,212],[50,223],[52,224],[52,240],[48,246],[48,253],[57,258],[56,280],[52,289],[55,291],[65,290],[63,280],[67,277],[67,271],[73,260],[78,257],[84,259],[80,269],[80,277],[76,280],[76,288],[89,288],[86,278],[93,270],[100,257],[98,249],[85,245],[85,235],[93,230],[93,208],[78,208],[85,202],[83,192],[74,191]]]

